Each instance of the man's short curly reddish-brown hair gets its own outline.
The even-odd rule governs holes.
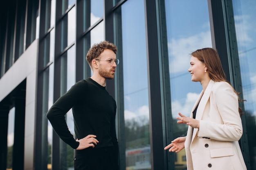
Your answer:
[[[92,60],[97,59],[105,49],[112,50],[117,54],[117,46],[108,41],[101,41],[98,44],[93,44],[86,54],[86,60],[90,67],[92,67]]]

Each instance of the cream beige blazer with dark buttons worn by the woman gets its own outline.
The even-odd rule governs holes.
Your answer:
[[[191,118],[197,105],[200,128],[188,128],[187,170],[246,170],[238,144],[243,134],[238,97],[231,85],[211,80],[195,102]]]

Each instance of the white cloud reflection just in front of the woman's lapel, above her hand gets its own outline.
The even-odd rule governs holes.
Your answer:
[[[190,116],[191,111],[193,109],[193,106],[198,98],[199,94],[197,93],[188,93],[186,95],[186,101],[184,105],[180,103],[179,101],[172,102],[172,114],[173,118],[176,118],[178,116],[178,113],[182,113],[185,116]]]

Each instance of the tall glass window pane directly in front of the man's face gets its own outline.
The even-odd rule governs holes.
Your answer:
[[[126,168],[151,169],[144,0],[127,1],[121,13]]]

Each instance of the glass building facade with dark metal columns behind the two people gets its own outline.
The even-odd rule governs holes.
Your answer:
[[[218,50],[240,92],[239,144],[256,169],[256,0],[9,0],[0,7],[0,170],[72,170],[74,150],[53,131],[49,107],[91,76],[85,59],[103,40],[120,63],[106,88],[117,101],[120,170],[186,170],[164,146],[186,133],[202,91],[190,53]],[[74,134],[72,111],[66,114]],[[75,136],[74,136],[75,137]]]

